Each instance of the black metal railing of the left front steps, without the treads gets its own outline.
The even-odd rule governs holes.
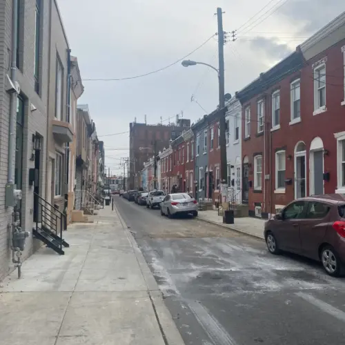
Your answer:
[[[37,210],[36,219],[34,219],[36,221],[36,230],[40,229],[52,235],[62,248],[62,232],[66,230],[67,226],[66,215],[37,193],[34,193],[34,208]]]

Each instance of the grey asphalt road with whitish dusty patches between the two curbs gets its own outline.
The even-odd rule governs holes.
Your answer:
[[[204,221],[115,205],[186,345],[345,344],[345,279]]]

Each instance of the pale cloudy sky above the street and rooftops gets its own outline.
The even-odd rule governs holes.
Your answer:
[[[217,75],[179,62],[137,79],[86,79],[135,77],[178,61],[217,32],[221,7],[225,90],[234,95],[345,10],[344,0],[57,1],[85,87],[79,103],[88,103],[113,174],[123,172],[121,157],[129,155],[130,122],[146,115],[148,124],[168,124],[177,114],[197,121],[217,107]],[[187,59],[217,68],[217,52],[214,36]]]

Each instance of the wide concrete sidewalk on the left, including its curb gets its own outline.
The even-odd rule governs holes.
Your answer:
[[[64,235],[66,255],[41,248],[0,283],[0,344],[184,344],[116,210]]]

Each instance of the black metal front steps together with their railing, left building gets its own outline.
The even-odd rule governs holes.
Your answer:
[[[34,193],[34,204],[37,209],[36,228],[33,229],[35,237],[63,255],[62,248],[69,247],[62,236],[63,230],[66,230],[66,215],[37,193]]]

